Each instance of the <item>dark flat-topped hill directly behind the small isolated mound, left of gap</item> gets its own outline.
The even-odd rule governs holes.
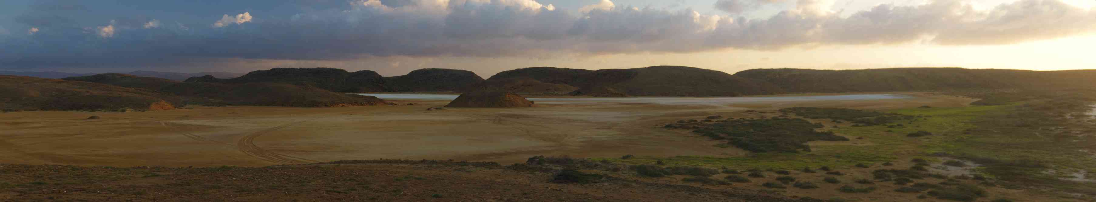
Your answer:
[[[396,92],[463,92],[483,78],[472,71],[458,69],[418,69],[408,75],[385,77],[385,85]]]

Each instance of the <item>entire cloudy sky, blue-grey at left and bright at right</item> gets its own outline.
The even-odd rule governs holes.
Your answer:
[[[4,0],[0,70],[1094,69],[1093,0]]]

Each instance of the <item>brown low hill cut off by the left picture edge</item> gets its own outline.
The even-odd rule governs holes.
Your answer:
[[[84,81],[0,76],[0,110],[171,110],[179,97]]]

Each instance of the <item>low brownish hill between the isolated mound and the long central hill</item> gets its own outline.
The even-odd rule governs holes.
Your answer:
[[[567,94],[579,88],[563,83],[541,82],[533,78],[488,79],[472,89],[482,91],[507,91],[518,94]]]

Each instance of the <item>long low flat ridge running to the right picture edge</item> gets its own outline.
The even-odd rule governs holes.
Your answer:
[[[750,69],[734,74],[772,82],[788,92],[882,92],[951,89],[1083,88],[1096,70],[1034,71],[964,68],[857,70]]]

